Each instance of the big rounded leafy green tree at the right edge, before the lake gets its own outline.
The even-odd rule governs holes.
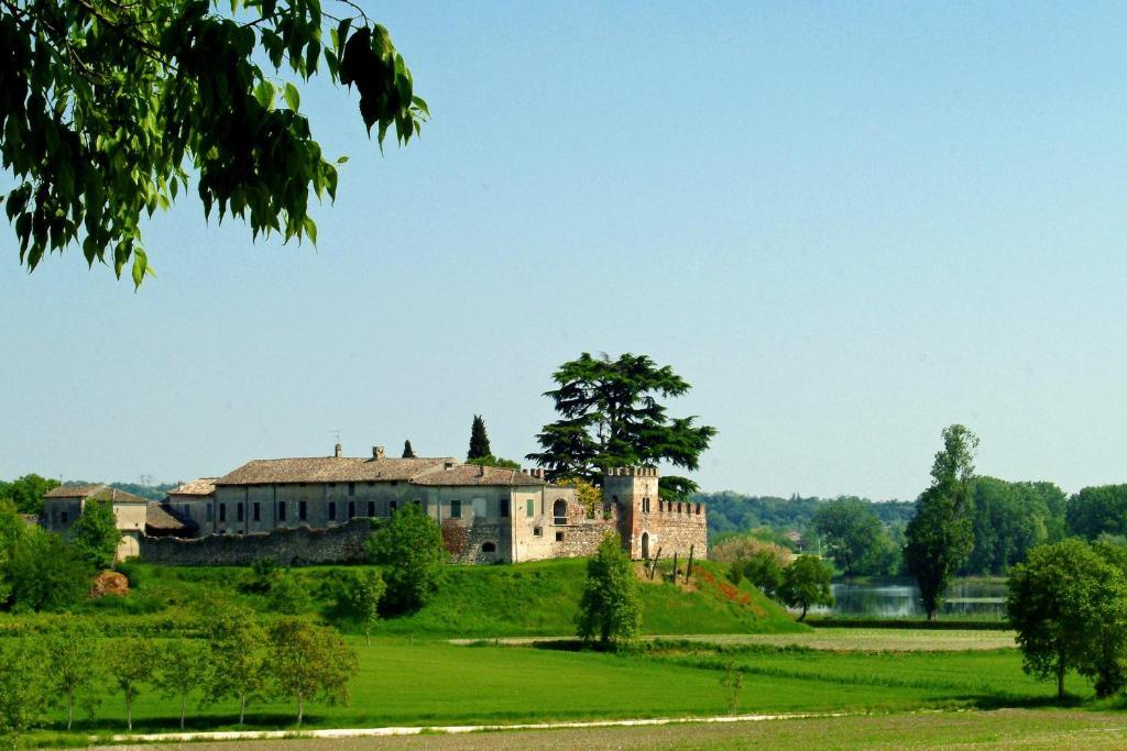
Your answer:
[[[1022,667],[1056,678],[1059,699],[1068,670],[1099,682],[1101,668],[1111,667],[1104,662],[1121,664],[1127,652],[1127,580],[1080,540],[1033,548],[1010,571],[1005,607]]]

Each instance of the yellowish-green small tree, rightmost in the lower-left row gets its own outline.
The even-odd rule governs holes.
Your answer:
[[[305,701],[348,701],[356,653],[336,631],[302,618],[282,618],[269,628],[266,671],[282,694],[298,703],[298,726]]]

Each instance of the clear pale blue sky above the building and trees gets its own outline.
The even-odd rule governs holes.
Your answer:
[[[978,468],[1127,481],[1124,3],[381,2],[433,123],[384,157],[355,95],[320,244],[195,200],[134,294],[0,232],[0,477],[255,457],[521,457],[580,351],[648,352],[719,428],[707,490],[914,498]]]

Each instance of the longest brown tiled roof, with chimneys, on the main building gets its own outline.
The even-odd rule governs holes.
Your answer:
[[[451,457],[401,459],[322,456],[294,459],[254,459],[215,481],[216,485],[266,485],[295,482],[388,482],[411,477],[455,463]]]

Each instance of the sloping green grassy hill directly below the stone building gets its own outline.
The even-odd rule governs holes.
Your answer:
[[[341,566],[290,570],[310,607],[345,631],[335,617],[334,588]],[[134,591],[125,601],[100,600],[98,610],[125,614],[188,615],[210,596],[223,594],[263,611],[267,597],[248,594],[239,583],[250,572],[238,567],[179,567],[130,564]],[[647,634],[746,634],[806,631],[758,590],[735,587],[724,566],[698,563],[689,585],[642,579],[642,629]],[[566,636],[575,633],[575,616],[586,578],[586,560],[540,561],[515,565],[449,566],[435,598],[421,610],[381,622],[378,633],[438,638]],[[109,600],[109,601],[107,601]]]

